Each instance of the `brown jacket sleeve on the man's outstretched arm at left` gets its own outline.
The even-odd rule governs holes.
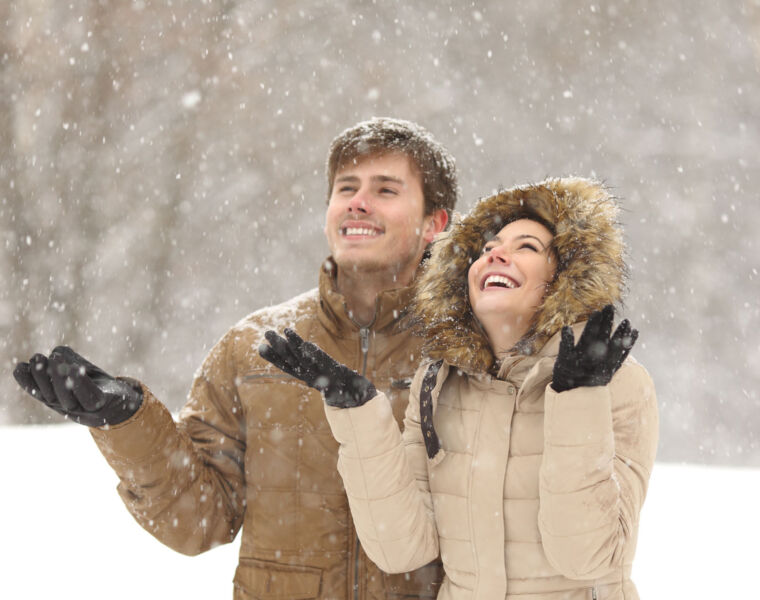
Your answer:
[[[129,512],[183,554],[232,541],[243,520],[245,426],[230,346],[223,338],[211,351],[179,422],[142,386],[132,418],[90,430]]]

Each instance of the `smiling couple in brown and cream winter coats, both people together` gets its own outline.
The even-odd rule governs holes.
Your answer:
[[[612,200],[584,180],[498,194],[418,274],[456,200],[453,159],[428,132],[356,125],[331,145],[327,184],[318,289],[233,327],[178,422],[70,348],[19,363],[17,381],[90,427],[165,544],[197,554],[242,527],[237,599],[435,597],[439,551],[440,597],[635,597],[657,425],[643,369],[620,366],[635,333],[610,337],[604,308],[624,273]],[[589,317],[576,346],[562,327]],[[290,374],[257,352],[286,326],[267,338]],[[298,379],[334,405],[353,520],[322,399]],[[385,571],[422,568],[388,575],[364,549]]]

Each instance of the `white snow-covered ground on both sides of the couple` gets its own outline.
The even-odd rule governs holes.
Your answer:
[[[231,598],[237,546],[197,557],[145,533],[76,425],[0,427],[0,597]],[[760,469],[658,464],[634,580],[642,600],[760,598]]]

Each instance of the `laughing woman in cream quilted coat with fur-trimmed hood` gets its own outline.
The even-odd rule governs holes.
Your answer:
[[[369,381],[267,333],[262,355],[325,396],[356,528],[383,570],[440,552],[439,598],[638,598],[658,419],[651,379],[626,359],[637,332],[623,321],[610,335],[625,283],[616,217],[598,183],[549,179],[481,200],[436,242],[403,436]]]

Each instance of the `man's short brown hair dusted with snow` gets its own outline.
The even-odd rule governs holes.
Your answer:
[[[425,214],[443,208],[451,221],[458,195],[454,157],[426,129],[402,119],[374,117],[346,129],[332,141],[327,157],[328,200],[338,170],[350,162],[395,152],[408,156],[420,174]]]

